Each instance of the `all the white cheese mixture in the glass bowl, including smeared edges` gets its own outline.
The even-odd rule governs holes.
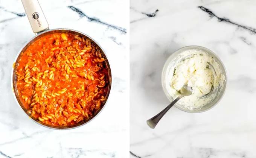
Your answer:
[[[194,93],[180,99],[178,104],[188,109],[200,109],[216,97],[218,87],[223,87],[225,77],[220,72],[220,65],[207,53],[184,52],[180,58],[172,65],[174,73],[170,81],[171,96],[177,97],[180,95],[178,91],[188,85]]]

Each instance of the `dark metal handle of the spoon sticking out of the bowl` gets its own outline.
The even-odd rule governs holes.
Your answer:
[[[157,115],[152,117],[151,119],[147,120],[147,124],[150,128],[155,128],[157,123],[160,121],[160,119],[165,115],[165,113],[175,104],[180,100],[183,96],[180,95],[178,96],[174,101],[172,101],[165,109],[163,109],[161,112],[159,112]]]

